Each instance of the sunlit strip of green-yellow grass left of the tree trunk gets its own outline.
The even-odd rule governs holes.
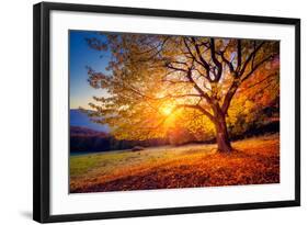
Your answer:
[[[213,153],[215,145],[191,144],[185,146],[160,146],[149,147],[140,151],[118,150],[98,154],[85,154],[70,156],[71,178],[91,175],[96,170],[100,173],[107,173],[123,167],[133,167],[142,164],[155,164],[162,159],[185,157],[203,150],[204,154]],[[96,171],[98,172],[98,171]]]

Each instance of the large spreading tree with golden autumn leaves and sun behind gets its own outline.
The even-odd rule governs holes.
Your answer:
[[[106,36],[107,41],[87,40],[91,48],[112,53],[106,72],[88,68],[89,83],[107,90],[104,97],[93,97],[89,115],[103,117],[96,122],[109,124],[118,138],[162,137],[175,122],[193,127],[198,121],[214,128],[219,153],[231,153],[228,126],[232,121],[277,102],[278,42]]]

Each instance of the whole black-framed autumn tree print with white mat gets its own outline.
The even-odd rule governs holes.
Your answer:
[[[37,222],[300,204],[300,20],[34,5]]]

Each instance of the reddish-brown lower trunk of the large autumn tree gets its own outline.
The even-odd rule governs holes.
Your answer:
[[[224,115],[218,116],[215,127],[218,153],[231,153],[233,149],[231,147],[227,131],[226,117]]]

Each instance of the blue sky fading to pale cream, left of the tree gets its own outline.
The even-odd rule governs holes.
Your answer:
[[[99,52],[88,46],[85,38],[96,37],[106,40],[105,35],[91,31],[69,32],[69,79],[70,79],[70,109],[80,106],[89,109],[88,103],[93,102],[92,97],[106,94],[103,89],[92,88],[88,80],[87,66],[95,71],[105,72],[111,59],[111,53]]]

